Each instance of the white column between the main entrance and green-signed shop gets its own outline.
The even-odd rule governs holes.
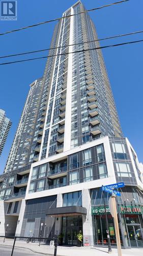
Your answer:
[[[85,207],[87,209],[87,215],[82,216],[83,245],[84,246],[94,245],[90,189],[82,190],[82,207]]]

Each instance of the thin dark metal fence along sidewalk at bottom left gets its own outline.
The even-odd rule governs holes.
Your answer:
[[[30,243],[33,243],[34,250],[37,248],[37,253],[40,253],[39,247],[40,245],[45,245],[44,249],[46,249],[46,255],[48,256],[56,256],[56,251],[57,251],[57,243],[58,240],[57,238],[41,238],[41,237],[13,237],[13,236],[0,236],[1,242],[0,242],[0,247],[1,245],[5,245],[7,247],[12,247],[12,250],[10,252],[10,256],[14,256],[14,247],[16,249],[20,249],[21,247],[24,247],[25,249],[28,249],[28,245]],[[16,246],[19,244],[19,246]],[[21,243],[26,243],[25,246]],[[29,246],[30,247],[30,246]],[[1,247],[2,251],[2,247]]]

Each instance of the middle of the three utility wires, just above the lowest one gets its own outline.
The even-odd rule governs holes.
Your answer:
[[[24,53],[17,53],[17,54],[6,55],[6,56],[0,57],[0,59],[14,57],[14,56],[20,56],[20,55],[25,55],[25,54],[30,54],[30,53],[36,53],[36,52],[49,51],[49,50],[59,49],[59,48],[63,48],[63,47],[67,48],[69,46],[88,44],[90,42],[102,41],[102,40],[107,40],[107,39],[112,39],[112,38],[117,38],[117,37],[122,37],[122,36],[127,36],[127,35],[133,35],[133,34],[138,34],[138,33],[143,33],[143,30],[135,31],[135,32],[127,33],[127,34],[109,36],[109,37],[100,38],[100,39],[96,39],[96,40],[92,40],[92,41],[79,42],[79,43],[73,44],[73,45],[59,46],[59,47],[47,48],[47,49],[42,49],[42,50],[37,50],[37,51],[31,51],[31,52],[24,52]]]

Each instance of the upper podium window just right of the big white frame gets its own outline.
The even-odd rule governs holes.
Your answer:
[[[125,146],[123,143],[112,143],[113,154],[116,159],[127,159]]]

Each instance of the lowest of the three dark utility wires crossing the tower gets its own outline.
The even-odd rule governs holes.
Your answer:
[[[104,48],[110,48],[110,47],[117,47],[117,46],[135,44],[137,42],[142,42],[142,41],[143,41],[143,39],[137,40],[137,41],[122,42],[122,44],[109,45],[109,46],[101,46],[101,47],[85,49],[85,50],[80,50],[80,51],[74,51],[74,52],[69,52],[69,53],[61,53],[61,54],[43,56],[43,57],[32,58],[32,59],[24,59],[24,60],[16,60],[16,61],[11,61],[11,62],[4,62],[4,63],[0,63],[0,65],[8,65],[8,64],[12,64],[12,63],[18,63],[18,62],[24,62],[24,61],[30,61],[30,60],[36,60],[36,59],[43,59],[43,58],[50,58],[50,57],[54,57],[54,56],[67,55],[67,54],[71,54],[71,53],[79,53],[79,52],[86,52],[86,51],[92,51],[92,50],[98,50],[98,49],[104,49]]]

